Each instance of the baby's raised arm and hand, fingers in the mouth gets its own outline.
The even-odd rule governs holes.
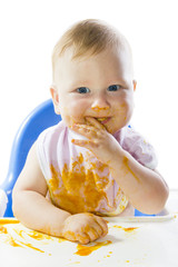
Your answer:
[[[107,164],[113,179],[118,182],[132,206],[146,214],[160,212],[168,198],[168,186],[156,171],[140,165],[105,127],[93,118],[87,118],[87,125],[72,127],[88,140],[72,140],[88,148],[96,157]]]

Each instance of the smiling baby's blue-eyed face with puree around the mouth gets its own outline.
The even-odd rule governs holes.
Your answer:
[[[129,122],[134,110],[130,55],[108,49],[72,60],[71,52],[68,50],[56,65],[56,110],[69,127],[93,117],[115,134]]]

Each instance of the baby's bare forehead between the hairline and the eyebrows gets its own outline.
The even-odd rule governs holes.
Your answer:
[[[102,80],[108,80],[108,82],[109,80],[122,80],[126,77],[132,77],[132,62],[127,49],[108,48],[98,55],[83,55],[75,59],[72,58],[72,52],[71,48],[57,60],[56,82],[85,83],[89,82],[91,77],[95,79],[97,73],[105,78]]]

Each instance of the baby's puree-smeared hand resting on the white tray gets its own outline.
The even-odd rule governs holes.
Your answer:
[[[62,237],[70,241],[88,244],[108,234],[105,219],[92,214],[76,214],[69,216],[63,224]]]

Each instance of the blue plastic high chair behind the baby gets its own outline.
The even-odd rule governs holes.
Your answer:
[[[32,110],[20,126],[11,149],[8,176],[1,186],[1,189],[3,189],[8,196],[8,206],[4,217],[13,217],[12,189],[24,166],[29,149],[44,129],[57,125],[60,120],[61,117],[56,115],[52,100],[49,99]],[[147,215],[136,209],[135,216]]]

